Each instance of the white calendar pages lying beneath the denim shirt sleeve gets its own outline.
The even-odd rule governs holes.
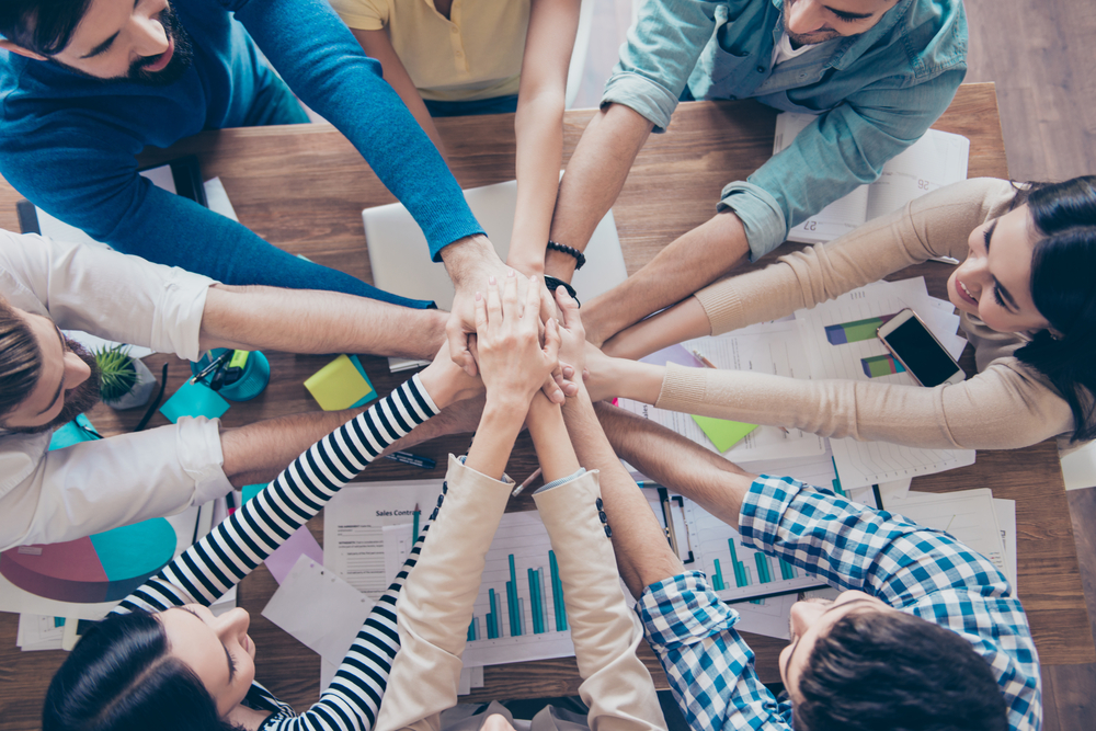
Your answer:
[[[813,114],[784,112],[776,117],[773,155],[785,149],[814,119]],[[938,187],[967,180],[970,140],[939,129],[888,160],[874,183],[860,185],[788,232],[789,241],[822,243],[857,226],[898,210],[910,201]]]

